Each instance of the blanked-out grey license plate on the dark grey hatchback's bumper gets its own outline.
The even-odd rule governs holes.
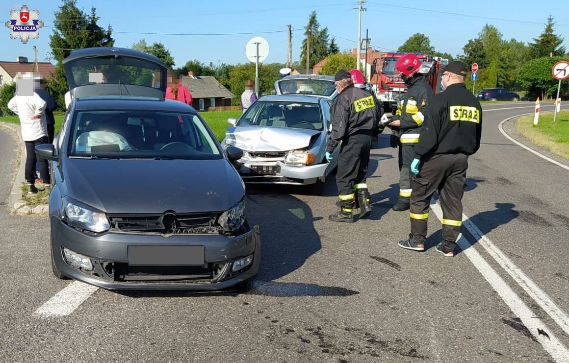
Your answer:
[[[129,265],[203,265],[203,246],[129,246]]]

